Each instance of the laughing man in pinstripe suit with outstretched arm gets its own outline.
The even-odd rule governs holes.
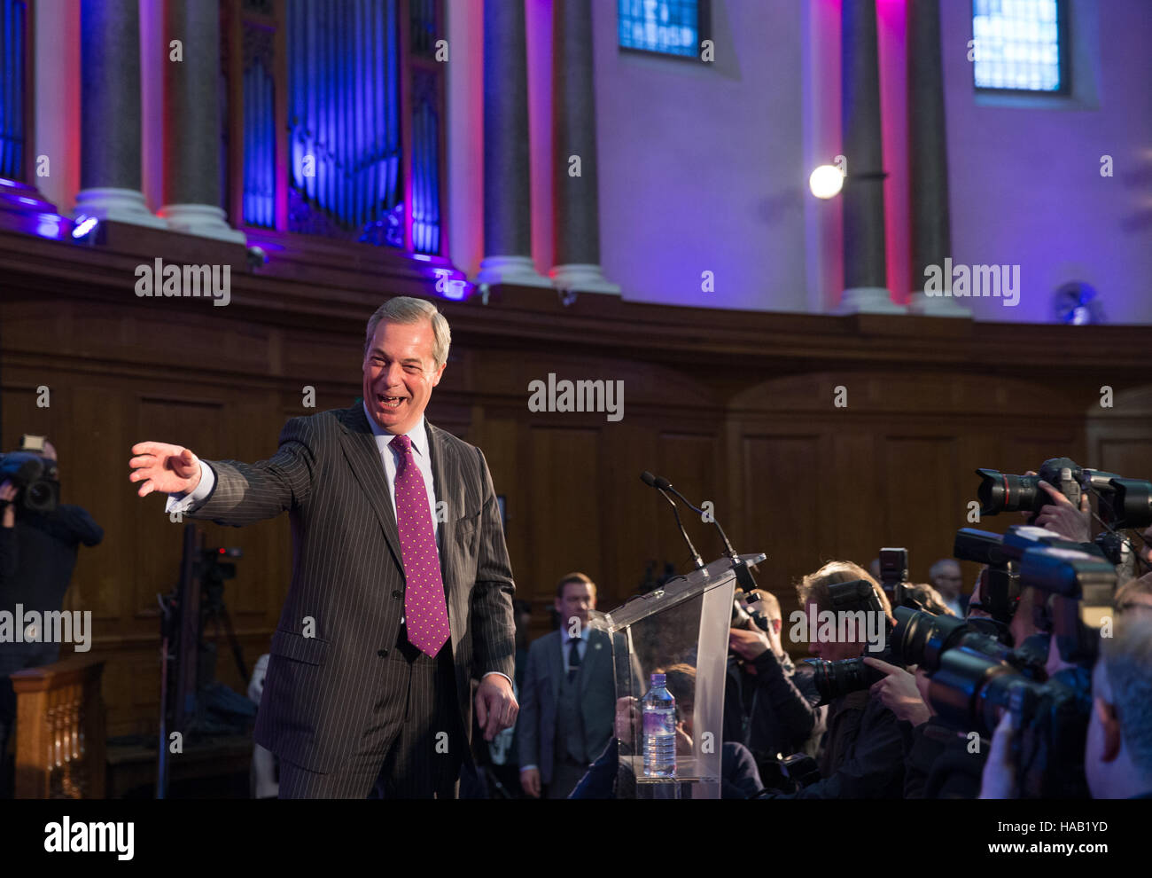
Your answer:
[[[452,797],[472,679],[487,740],[516,719],[492,478],[479,448],[424,419],[449,342],[434,305],[396,297],[367,324],[363,403],[290,419],[270,460],[132,447],[130,480],[168,493],[166,510],[236,527],[289,513],[291,585],[256,724],[281,797]]]

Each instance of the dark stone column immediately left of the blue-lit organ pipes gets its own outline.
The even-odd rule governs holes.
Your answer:
[[[172,60],[180,40],[181,61]],[[220,207],[220,9],[167,0],[164,43],[164,207],[168,227],[244,243]]]

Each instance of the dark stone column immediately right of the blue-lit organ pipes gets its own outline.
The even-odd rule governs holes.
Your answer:
[[[484,252],[477,283],[551,286],[532,265],[522,0],[484,0]]]

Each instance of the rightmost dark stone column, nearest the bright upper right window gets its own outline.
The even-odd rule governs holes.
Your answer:
[[[908,165],[911,189],[912,295],[908,310],[935,317],[971,317],[952,296],[924,293],[924,270],[943,271],[952,256],[948,214],[948,137],[943,109],[940,0],[908,3]],[[952,278],[942,287],[952,290]]]

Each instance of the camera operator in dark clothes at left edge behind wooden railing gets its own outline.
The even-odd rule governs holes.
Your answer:
[[[22,451],[56,464],[56,451],[43,437],[25,437]],[[15,612],[18,604],[24,613],[36,611],[43,619],[44,613],[60,612],[78,545],[94,546],[104,538],[104,530],[78,506],[29,509],[22,502],[23,493],[13,479],[0,482],[0,608]],[[59,643],[40,639],[25,633],[22,643],[5,643],[0,649],[0,797],[12,795],[7,752],[16,720],[16,695],[9,675],[51,665],[60,656]]]

